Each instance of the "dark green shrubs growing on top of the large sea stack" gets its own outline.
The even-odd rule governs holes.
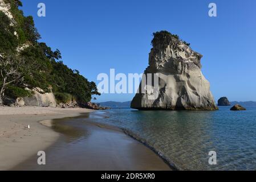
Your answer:
[[[160,32],[155,32],[153,33],[153,40],[151,42],[152,46],[156,46],[159,43],[162,44],[169,44],[171,38],[175,38],[177,40],[182,41],[186,46],[190,46],[190,43],[186,43],[185,41],[181,40],[180,37],[176,34],[171,34],[170,32],[163,30]]]

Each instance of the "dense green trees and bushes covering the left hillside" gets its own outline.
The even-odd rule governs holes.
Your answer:
[[[0,11],[0,69],[3,72],[0,75],[0,89],[3,88],[5,95],[13,98],[29,96],[26,87],[39,87],[45,92],[52,89],[59,102],[75,99],[79,104],[85,104],[92,95],[100,94],[95,82],[88,81],[78,71],[63,64],[58,49],[52,51],[46,43],[38,42],[40,35],[32,16],[24,16],[22,10],[18,9],[22,6],[21,1],[5,0],[5,3],[10,4],[14,17],[9,19]],[[13,57],[18,61],[5,64],[11,59],[10,55],[15,55]],[[20,64],[19,69],[12,68],[17,64]],[[16,75],[9,74],[13,71]],[[4,81],[8,85],[3,84]]]

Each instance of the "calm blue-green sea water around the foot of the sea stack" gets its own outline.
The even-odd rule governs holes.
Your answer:
[[[246,111],[137,111],[114,109],[92,121],[128,130],[180,169],[255,170],[256,107]],[[217,152],[210,165],[209,151]]]

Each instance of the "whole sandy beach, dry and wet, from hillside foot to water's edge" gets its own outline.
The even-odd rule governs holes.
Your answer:
[[[19,139],[21,134],[17,133],[9,138],[0,138],[0,169],[170,170],[155,152],[122,130],[92,123],[88,114],[63,118],[81,114],[81,111],[70,112],[60,115],[0,115],[1,126],[3,120],[14,122],[15,125],[22,123],[23,128],[19,133],[26,135],[22,139]],[[91,115],[97,117],[96,113]],[[48,120],[52,118],[63,119]],[[48,127],[37,122],[40,120],[44,120],[42,123]],[[31,129],[25,129],[27,123],[31,122]],[[39,150],[46,152],[44,166],[37,164],[36,154]]]

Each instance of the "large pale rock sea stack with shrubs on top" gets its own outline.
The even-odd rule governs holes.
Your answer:
[[[149,67],[144,73],[146,78],[148,73],[158,73],[157,97],[152,99],[152,93],[138,92],[131,107],[139,110],[218,109],[210,92],[209,81],[201,72],[202,55],[193,51],[177,35],[167,31],[153,35]]]

